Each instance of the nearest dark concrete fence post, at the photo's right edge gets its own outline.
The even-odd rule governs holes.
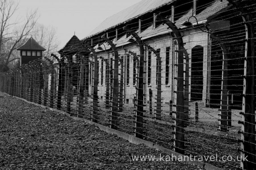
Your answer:
[[[254,101],[254,24],[250,13],[246,12],[242,18],[245,22],[245,58],[243,76],[243,105],[241,114],[241,167],[252,170],[256,162],[255,149],[255,101]]]

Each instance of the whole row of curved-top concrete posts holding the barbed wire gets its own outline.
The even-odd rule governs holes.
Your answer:
[[[252,167],[255,166],[255,108],[254,108],[254,85],[255,85],[255,71],[254,71],[254,57],[255,57],[255,50],[254,50],[254,24],[253,18],[255,17],[254,14],[245,11],[245,8],[239,8],[243,6],[239,3],[235,3],[232,0],[228,0],[232,5],[234,5],[237,10],[240,11],[241,17],[243,19],[243,23],[245,24],[245,56],[244,56],[244,63],[243,63],[243,94],[242,94],[242,111],[241,120],[238,121],[241,124],[241,131],[238,133],[241,134],[241,139],[238,142],[241,143],[240,152],[241,152],[241,168],[251,170]],[[195,1],[194,1],[195,2]],[[247,3],[247,2],[245,2]],[[188,116],[189,116],[189,54],[187,50],[184,48],[183,39],[181,33],[177,29],[176,25],[174,24],[173,20],[170,21],[166,18],[163,18],[160,14],[156,16],[156,20],[162,21],[164,24],[168,26],[169,29],[172,30],[172,37],[173,39],[177,40],[178,50],[177,52],[177,89],[174,90],[175,99],[174,101],[169,101],[169,115],[172,116],[174,113],[175,125],[174,125],[174,149],[176,152],[181,154],[185,153],[185,127],[189,123]],[[147,46],[143,43],[141,38],[138,36],[137,33],[130,30],[129,27],[123,27],[123,30],[130,33],[135,39],[137,44],[139,45],[139,55],[129,51],[130,54],[133,55],[133,59],[136,60],[134,62],[138,63],[137,66],[137,84],[136,84],[136,96],[134,98],[134,110],[135,110],[135,137],[143,138],[143,110],[144,108],[144,46]],[[209,30],[208,30],[209,31]],[[221,50],[222,50],[222,83],[221,83],[221,97],[220,97],[220,116],[219,121],[219,131],[227,132],[228,127],[231,127],[231,107],[230,107],[230,95],[228,92],[228,50],[224,42],[220,41],[214,34],[211,32],[210,36],[212,40],[215,40]],[[106,63],[106,101],[105,107],[109,108],[110,103],[112,102],[112,113],[111,113],[111,128],[118,129],[118,118],[119,114],[118,111],[123,110],[123,102],[124,102],[124,95],[123,92],[123,78],[124,78],[124,65],[123,65],[123,57],[119,58],[118,50],[116,45],[110,41],[108,38],[103,35],[101,37],[104,41],[108,42],[113,50],[114,54],[114,69],[113,69],[113,85],[110,87],[110,75],[111,64],[108,63],[108,59],[102,59]],[[86,41],[82,41],[82,44],[85,44],[85,48],[92,52],[94,61],[94,68],[93,68],[93,83],[92,83],[92,121],[98,122],[98,57],[94,50],[94,48]],[[152,47],[148,46],[148,50],[154,52],[157,58],[157,94],[156,94],[156,120],[162,119],[162,61],[160,58],[160,52],[158,50],[154,50]],[[65,86],[64,86],[64,100],[66,102],[65,110],[67,113],[71,114],[71,101],[72,93],[71,93],[71,77],[72,77],[72,54],[71,53],[61,52],[61,59],[59,59],[56,55],[51,54],[57,61],[59,65],[58,71],[58,86],[57,86],[57,109],[62,108],[62,88],[63,82],[62,78],[64,79],[65,74]],[[78,94],[78,110],[77,116],[82,118],[83,115],[83,107],[84,101],[87,103],[88,97],[88,90],[89,90],[89,71],[88,71],[88,63],[91,62],[88,58],[82,56],[82,53],[78,53],[80,57],[80,76],[79,76],[79,94]],[[85,53],[84,53],[85,54]],[[87,52],[86,52],[87,54]],[[210,54],[210,53],[208,53]],[[67,63],[64,63],[64,57],[67,59]],[[46,62],[46,60],[49,62]],[[184,61],[185,60],[185,61]],[[120,73],[120,82],[119,82],[119,62],[121,65],[121,73]],[[207,61],[208,62],[208,61]],[[185,65],[185,76],[183,67]],[[202,70],[204,71],[204,70]],[[208,71],[208,70],[207,70]],[[214,71],[214,70],[213,70]],[[10,95],[20,96],[28,101],[33,101],[34,103],[43,104],[45,106],[49,105],[50,107],[54,107],[55,104],[55,67],[54,63],[51,59],[46,58],[45,60],[40,60],[40,63],[35,61],[30,61],[28,65],[23,65],[19,69],[8,71],[7,73],[1,73],[0,75],[0,90],[6,92]],[[85,74],[85,75],[84,75]],[[49,76],[51,75],[51,76]],[[205,75],[203,75],[205,76]],[[208,77],[208,75],[206,76]],[[210,80],[208,83],[211,83]],[[49,84],[50,83],[50,84]],[[119,86],[120,84],[120,86]],[[208,84],[211,86],[211,84]],[[111,90],[112,89],[112,90]],[[112,93],[110,93],[110,90]],[[85,93],[85,94],[84,94]],[[149,114],[152,114],[152,89],[149,89]],[[209,92],[210,94],[210,92]],[[112,95],[112,97],[110,97]],[[110,98],[112,101],[110,101]],[[168,107],[168,106],[167,106]],[[176,109],[173,111],[172,107]],[[195,122],[199,120],[199,113],[198,113],[198,103],[195,103]],[[203,116],[203,115],[202,115]],[[161,122],[161,121],[158,121]],[[198,123],[196,123],[198,124]],[[223,134],[223,133],[219,133]],[[225,133],[227,134],[227,133]],[[246,160],[243,160],[246,158]]]

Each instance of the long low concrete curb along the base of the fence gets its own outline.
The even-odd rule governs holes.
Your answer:
[[[173,150],[164,148],[163,146],[157,145],[157,144],[155,144],[153,142],[137,138],[137,137],[135,137],[133,135],[129,135],[127,133],[124,133],[124,132],[121,132],[121,131],[118,131],[118,130],[115,130],[115,129],[111,129],[111,128],[107,127],[107,126],[104,126],[104,125],[92,122],[90,120],[87,120],[87,119],[84,119],[84,118],[78,118],[78,117],[70,116],[70,114],[68,114],[68,113],[66,113],[64,111],[60,111],[60,110],[57,110],[57,109],[53,109],[51,107],[47,107],[47,106],[40,105],[40,104],[31,102],[31,101],[27,101],[26,99],[22,99],[20,97],[13,96],[13,98],[20,99],[20,100],[25,101],[27,103],[30,103],[30,104],[33,104],[33,105],[36,105],[36,106],[39,106],[39,107],[42,107],[42,108],[45,108],[45,109],[49,109],[51,111],[59,112],[61,114],[64,114],[66,116],[69,116],[69,117],[73,118],[74,120],[82,120],[82,121],[84,121],[84,122],[86,122],[88,124],[92,124],[92,125],[97,126],[102,131],[105,131],[107,133],[113,133],[113,134],[117,135],[118,137],[121,137],[121,138],[129,141],[130,143],[133,143],[133,144],[144,144],[144,145],[146,145],[146,146],[148,146],[150,148],[161,150],[162,152],[165,152],[168,155],[173,155],[173,156],[176,156],[176,157],[182,156],[184,158],[184,156],[185,156],[183,154],[179,154],[177,152],[174,152]],[[201,161],[186,160],[186,162],[191,163],[193,165],[197,165],[197,166],[203,167],[205,170],[224,170],[222,168],[219,168],[219,167],[216,167],[216,166],[211,165],[209,163],[204,163],[204,162],[201,162]]]

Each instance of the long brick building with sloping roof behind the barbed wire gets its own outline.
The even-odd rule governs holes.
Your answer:
[[[110,70],[113,69],[113,52],[111,46],[104,42],[100,37],[106,35],[114,44],[116,44],[119,57],[123,62],[123,94],[124,102],[131,103],[136,94],[136,76],[138,70],[136,66],[136,56],[139,54],[137,43],[132,40],[132,36],[125,32],[122,28],[128,25],[135,30],[143,40],[143,43],[151,46],[158,52],[162,61],[162,98],[164,103],[169,100],[174,100],[173,91],[176,88],[176,68],[177,68],[177,42],[172,31],[167,25],[162,25],[156,20],[156,15],[161,13],[173,21],[181,32],[184,47],[189,54],[189,100],[203,101],[205,105],[209,103],[220,104],[221,91],[221,69],[222,69],[222,52],[216,50],[219,47],[212,40],[209,33],[201,30],[206,30],[205,23],[216,34],[226,34],[229,39],[236,37],[231,35],[232,31],[240,31],[243,33],[244,28],[232,27],[232,23],[239,22],[229,20],[228,15],[230,5],[226,0],[212,1],[173,1],[173,0],[143,0],[139,3],[107,18],[102,24],[96,27],[83,41],[90,42],[90,45],[96,49],[98,55],[98,96],[105,97],[106,94],[106,62],[108,59]],[[232,14],[233,15],[233,14]],[[191,16],[194,16],[191,18]],[[190,18],[190,19],[189,19]],[[198,25],[196,19],[198,21]],[[188,28],[183,26],[184,22],[190,21],[194,27]],[[242,24],[241,24],[242,25]],[[201,29],[199,29],[199,27]],[[232,31],[231,31],[232,30]],[[230,34],[230,35],[229,35]],[[233,36],[233,37],[232,37]],[[241,39],[241,38],[240,38]],[[236,42],[236,45],[239,43]],[[239,48],[244,48],[244,43],[241,43]],[[233,44],[226,42],[228,50]],[[101,47],[101,48],[99,48]],[[214,48],[214,50],[212,50]],[[144,47],[144,101],[149,100],[149,90],[152,90],[153,96],[156,95],[156,77],[157,77],[157,60],[155,54]],[[214,51],[214,52],[213,52]],[[230,51],[229,51],[230,52]],[[88,59],[92,61],[91,54],[88,54]],[[234,56],[232,56],[234,55]],[[239,51],[234,51],[229,57],[239,58],[243,56]],[[103,58],[103,59],[100,59]],[[242,62],[238,60],[237,62]],[[192,63],[192,64],[191,64]],[[232,64],[231,64],[232,65]],[[92,94],[92,77],[93,64],[89,65],[89,94]],[[121,73],[119,65],[119,73]],[[240,74],[238,71],[237,74]],[[242,75],[242,73],[241,73]],[[110,77],[113,75],[111,74]],[[120,80],[120,75],[119,75]],[[232,84],[233,80],[229,83]],[[111,84],[111,82],[110,82]],[[236,80],[236,84],[242,84],[242,79]],[[232,88],[230,88],[232,90]],[[234,92],[235,93],[235,92]],[[111,94],[111,92],[110,92]],[[235,100],[240,102],[240,96],[235,96]]]

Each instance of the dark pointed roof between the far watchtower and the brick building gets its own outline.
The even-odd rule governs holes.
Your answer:
[[[71,52],[71,51],[81,51],[81,52],[86,51],[82,42],[75,35],[73,35],[73,37],[71,37],[71,39],[67,42],[67,44],[65,44],[65,46],[61,48],[61,50],[59,50],[58,52]]]

